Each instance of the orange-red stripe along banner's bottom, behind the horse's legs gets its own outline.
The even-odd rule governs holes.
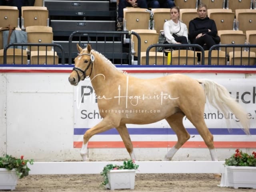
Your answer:
[[[83,142],[75,141],[74,148],[81,148]],[[173,147],[176,142],[171,141],[134,141],[134,148],[168,148]],[[233,142],[233,141],[216,141],[215,148],[256,148],[256,142]],[[92,141],[88,142],[88,148],[124,148],[122,141]],[[203,141],[188,141],[182,148],[207,148]]]

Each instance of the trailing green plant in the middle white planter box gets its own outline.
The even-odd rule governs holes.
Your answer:
[[[123,165],[113,165],[113,164],[108,164],[106,166],[104,166],[102,172],[100,173],[100,175],[103,176],[104,181],[102,182],[102,185],[106,185],[108,184],[108,172],[110,170],[122,170],[122,169],[138,169],[138,165],[135,164],[134,160],[128,160],[128,161],[124,161]]]

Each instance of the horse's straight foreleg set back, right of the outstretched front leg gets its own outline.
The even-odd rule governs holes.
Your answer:
[[[131,141],[130,134],[127,130],[126,125],[125,124],[120,125],[120,126],[116,127],[116,130],[120,134],[120,136],[124,142],[124,146],[126,147],[126,150],[128,151],[128,153],[130,154],[131,159],[136,160],[134,151],[133,151],[132,141]]]

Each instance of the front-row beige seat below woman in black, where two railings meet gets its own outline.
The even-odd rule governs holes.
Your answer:
[[[204,51],[204,64],[208,65],[209,50]],[[228,61],[224,51],[212,50],[211,65],[226,65]]]

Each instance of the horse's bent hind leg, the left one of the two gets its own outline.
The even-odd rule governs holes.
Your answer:
[[[188,134],[187,130],[184,128],[182,122],[183,117],[184,114],[178,112],[166,118],[166,121],[168,122],[168,124],[171,126],[172,130],[174,130],[178,137],[178,142],[165,155],[164,160],[166,161],[172,160],[172,157],[178,151],[178,149],[190,138],[190,134]]]

